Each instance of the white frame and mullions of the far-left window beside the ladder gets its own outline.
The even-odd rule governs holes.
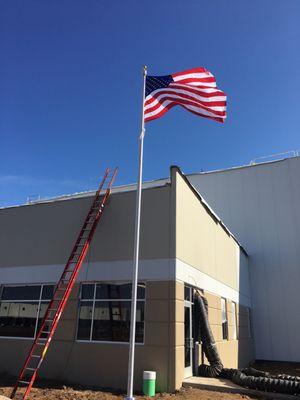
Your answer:
[[[39,298],[35,299],[35,300],[29,300],[29,299],[27,299],[27,300],[22,300],[22,299],[19,299],[19,300],[2,300],[2,294],[3,294],[3,289],[4,288],[6,288],[6,287],[26,287],[26,286],[40,286]],[[48,302],[48,304],[49,304],[50,301],[51,301],[51,299],[47,300],[47,299],[43,299],[42,298],[43,287],[44,286],[53,286],[54,287],[54,291],[55,291],[56,283],[48,283],[48,282],[47,283],[26,283],[26,284],[24,284],[24,283],[16,283],[16,284],[15,283],[10,283],[8,285],[2,284],[0,286],[0,304],[1,303],[13,303],[14,301],[15,302],[24,302],[24,303],[36,302],[36,304],[37,304],[36,321],[35,321],[34,335],[33,336],[28,337],[28,336],[3,336],[3,335],[0,335],[0,339],[35,340],[36,334],[37,334],[38,323],[39,323],[39,314],[40,314],[40,311],[41,311],[41,304],[45,303],[45,302]],[[54,291],[53,291],[53,293],[54,293]]]

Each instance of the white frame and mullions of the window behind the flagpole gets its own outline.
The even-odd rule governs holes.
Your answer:
[[[77,321],[76,321],[76,335],[75,335],[75,342],[78,343],[96,343],[96,344],[121,344],[128,346],[129,345],[129,340],[128,342],[119,342],[119,341],[114,341],[114,340],[93,340],[93,326],[94,326],[94,314],[95,314],[95,303],[97,301],[107,301],[107,302],[114,302],[114,301],[126,301],[129,302],[131,305],[131,298],[129,299],[96,299],[96,290],[97,290],[97,284],[126,284],[126,283],[131,283],[130,281],[87,281],[87,282],[80,282],[80,291],[79,291],[79,298],[78,298],[78,307],[77,307]],[[143,282],[138,282],[138,283],[143,283],[145,284],[145,297],[143,299],[137,299],[137,302],[143,302],[144,303],[144,315],[145,315],[145,310],[146,310],[146,297],[147,297],[147,283],[146,281]],[[81,299],[82,295],[82,286],[83,285],[94,285],[94,297],[93,299]],[[90,327],[90,337],[89,339],[77,339],[78,336],[78,328],[79,328],[79,316],[80,316],[80,306],[82,302],[92,302],[93,303],[93,308],[92,308],[92,320],[91,320],[91,327]],[[146,336],[146,329],[145,329],[145,320],[143,321],[143,341],[142,342],[135,342],[135,345],[137,346],[144,346],[145,345],[145,336]]]

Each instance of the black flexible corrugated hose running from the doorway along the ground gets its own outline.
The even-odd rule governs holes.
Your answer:
[[[204,354],[210,365],[201,364],[198,375],[220,377],[232,380],[249,389],[264,390],[285,394],[300,394],[300,377],[291,375],[271,375],[255,368],[231,369],[223,368],[218,349],[208,322],[208,306],[205,297],[196,293],[194,299],[195,339],[202,341]]]

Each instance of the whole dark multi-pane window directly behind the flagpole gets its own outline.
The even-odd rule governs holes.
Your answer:
[[[82,284],[77,340],[129,342],[131,283]],[[138,284],[136,342],[144,341],[145,284]]]

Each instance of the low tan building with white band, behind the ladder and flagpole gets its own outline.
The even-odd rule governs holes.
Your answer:
[[[92,197],[0,210],[0,372],[20,370]],[[115,188],[41,377],[126,387],[134,214],[135,186]],[[140,258],[137,389],[143,370],[157,371],[162,391],[195,372],[195,289],[208,299],[224,365],[253,360],[249,257],[177,167],[169,179],[144,185]]]

